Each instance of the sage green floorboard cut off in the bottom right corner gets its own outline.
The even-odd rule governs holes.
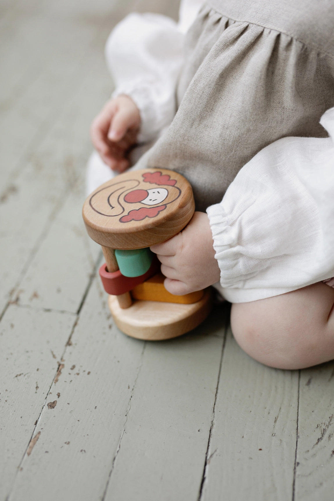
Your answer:
[[[334,362],[301,371],[295,501],[334,492]]]

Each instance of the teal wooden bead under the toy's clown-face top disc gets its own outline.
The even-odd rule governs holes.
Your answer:
[[[146,273],[152,263],[153,253],[149,247],[135,250],[115,250],[120,272],[124,277],[139,277]]]

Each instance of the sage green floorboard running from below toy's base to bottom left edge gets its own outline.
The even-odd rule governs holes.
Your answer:
[[[95,281],[63,356],[22,462],[9,501],[98,501],[124,433],[131,395],[143,364],[145,343],[120,333],[110,319],[105,293]],[[59,394],[59,396],[58,396]],[[24,449],[23,449],[24,451]],[[48,452],[46,452],[48,451]]]

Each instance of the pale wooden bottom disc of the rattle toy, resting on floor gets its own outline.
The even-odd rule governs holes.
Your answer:
[[[122,310],[117,297],[109,296],[109,308],[117,327],[133,338],[162,341],[176,338],[197,327],[211,311],[211,290],[206,289],[200,301],[190,305],[134,301]]]

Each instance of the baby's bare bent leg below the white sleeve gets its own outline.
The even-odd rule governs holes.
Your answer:
[[[334,358],[334,289],[318,282],[280,296],[235,303],[231,328],[257,361],[301,369]]]

